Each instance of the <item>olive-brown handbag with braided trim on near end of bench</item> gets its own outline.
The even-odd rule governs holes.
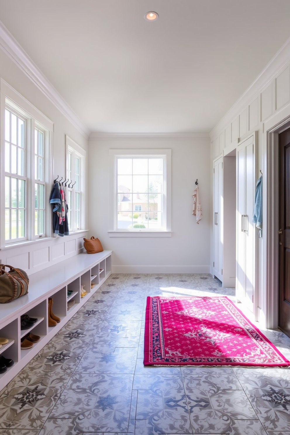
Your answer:
[[[10,268],[7,272],[5,268]],[[6,304],[28,293],[29,278],[22,269],[0,264],[0,304]]]

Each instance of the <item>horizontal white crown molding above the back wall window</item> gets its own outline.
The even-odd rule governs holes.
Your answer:
[[[208,133],[91,133],[89,141],[120,139],[199,139],[210,141]]]

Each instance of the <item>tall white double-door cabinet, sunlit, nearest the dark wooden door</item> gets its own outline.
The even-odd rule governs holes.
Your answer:
[[[252,223],[256,180],[256,136],[237,146],[237,300],[254,311],[255,229]]]

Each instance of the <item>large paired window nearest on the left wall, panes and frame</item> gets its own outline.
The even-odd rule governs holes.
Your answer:
[[[1,92],[0,245],[4,248],[50,235],[50,208],[45,204],[53,123],[3,80]]]

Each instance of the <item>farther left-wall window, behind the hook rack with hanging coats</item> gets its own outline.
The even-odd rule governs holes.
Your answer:
[[[66,136],[67,146],[67,218],[70,231],[84,229],[84,164],[86,151]]]

